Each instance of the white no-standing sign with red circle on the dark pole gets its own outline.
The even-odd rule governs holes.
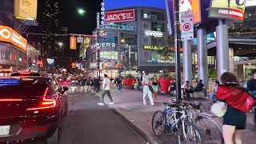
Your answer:
[[[193,11],[181,12],[182,23],[182,41],[190,40],[194,38],[194,23],[193,23]]]

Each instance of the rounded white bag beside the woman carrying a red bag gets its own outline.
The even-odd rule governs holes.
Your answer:
[[[214,113],[217,117],[223,117],[226,113],[226,103],[225,102],[215,102],[213,106],[211,106],[210,110]]]

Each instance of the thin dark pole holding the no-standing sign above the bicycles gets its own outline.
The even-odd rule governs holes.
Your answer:
[[[176,101],[182,101],[181,90],[181,31],[179,30],[179,1],[174,0],[174,36],[175,36],[175,73],[176,73]]]

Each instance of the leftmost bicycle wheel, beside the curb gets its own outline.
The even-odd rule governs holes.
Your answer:
[[[151,126],[156,136],[161,136],[166,127],[166,115],[161,111],[155,111],[152,117]]]

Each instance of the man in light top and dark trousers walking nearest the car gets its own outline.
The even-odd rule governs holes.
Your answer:
[[[114,101],[113,101],[113,99],[111,97],[111,94],[110,94],[110,78],[108,78],[106,74],[104,74],[104,79],[103,79],[103,90],[104,90],[104,92],[102,94],[102,102],[99,102],[98,105],[99,106],[104,106],[104,97],[105,97],[106,94],[110,98],[109,105],[113,105]]]

